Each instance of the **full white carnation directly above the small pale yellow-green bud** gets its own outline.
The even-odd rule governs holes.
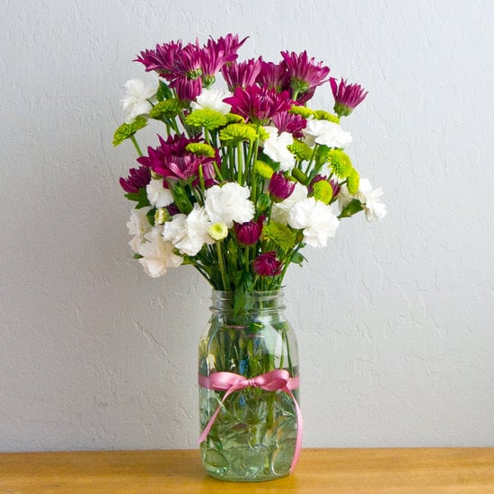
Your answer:
[[[254,217],[254,205],[249,199],[251,190],[235,182],[227,182],[223,187],[214,185],[206,190],[207,216],[211,223],[225,223],[232,228],[234,222],[246,223]]]

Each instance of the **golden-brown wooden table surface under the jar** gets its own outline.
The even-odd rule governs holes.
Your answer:
[[[304,449],[259,483],[208,477],[198,450],[1,453],[0,493],[494,493],[494,448]]]

